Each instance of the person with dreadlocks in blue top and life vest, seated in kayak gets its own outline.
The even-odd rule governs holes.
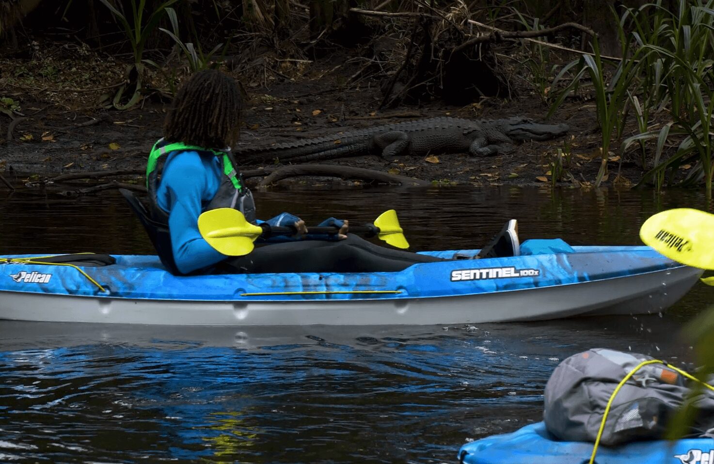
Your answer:
[[[221,71],[206,70],[188,79],[166,114],[164,138],[151,150],[146,182],[152,220],[168,227],[171,242],[160,243],[163,246],[156,248],[160,255],[161,250],[171,251],[169,261],[175,263],[174,271],[389,272],[416,263],[448,261],[375,245],[348,234],[348,221],[336,218],[320,226],[335,226],[339,233],[306,240],[305,223],[290,213],[282,213],[267,223],[294,228],[296,235],[291,241],[282,238],[282,243],[266,243],[238,257],[213,249],[198,231],[198,216],[203,211],[236,208],[247,221],[261,222],[256,218],[251,191],[244,185],[231,153],[231,146],[238,141],[241,111],[236,81]],[[517,224],[512,219],[477,257],[518,256],[518,246]]]

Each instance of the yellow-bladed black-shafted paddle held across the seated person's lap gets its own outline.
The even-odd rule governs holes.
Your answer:
[[[198,231],[209,245],[228,256],[243,256],[253,251],[253,242],[259,237],[291,236],[293,227],[273,227],[268,223],[259,226],[246,221],[241,211],[233,208],[211,209],[198,216]],[[308,227],[308,233],[331,235],[338,233],[337,227]],[[397,212],[393,209],[381,213],[374,224],[350,226],[349,233],[363,233],[368,237],[377,236],[391,246],[409,248],[399,226]]]

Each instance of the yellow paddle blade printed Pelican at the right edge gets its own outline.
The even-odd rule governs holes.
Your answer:
[[[645,221],[640,238],[674,261],[714,269],[714,214],[690,208],[662,211]]]

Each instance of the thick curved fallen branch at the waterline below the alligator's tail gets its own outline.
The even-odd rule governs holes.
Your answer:
[[[245,175],[245,174],[243,174]],[[429,186],[431,182],[421,179],[384,173],[366,168],[352,166],[336,166],[333,164],[296,164],[283,166],[273,171],[270,176],[258,183],[258,187],[265,187],[281,179],[298,176],[338,177],[342,179],[357,179],[368,182],[396,183],[400,185]]]

